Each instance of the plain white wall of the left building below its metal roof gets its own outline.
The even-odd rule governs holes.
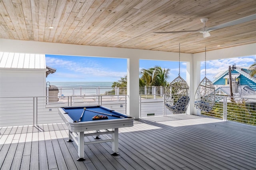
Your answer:
[[[46,69],[0,69],[0,96],[46,96]]]

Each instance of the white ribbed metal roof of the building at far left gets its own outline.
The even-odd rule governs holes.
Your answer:
[[[45,55],[0,52],[0,68],[46,69]]]

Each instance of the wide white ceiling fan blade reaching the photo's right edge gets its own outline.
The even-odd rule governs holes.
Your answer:
[[[225,27],[234,26],[234,25],[237,25],[237,24],[242,24],[244,22],[248,22],[248,21],[252,21],[252,20],[256,20],[256,14],[253,14],[253,15],[250,15],[250,16],[246,16],[246,17],[240,18],[238,20],[226,22],[226,23],[220,24],[218,26],[210,27],[206,31],[218,30],[220,28],[225,28]]]

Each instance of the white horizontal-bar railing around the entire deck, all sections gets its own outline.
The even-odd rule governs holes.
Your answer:
[[[102,105],[126,114],[126,104],[127,95],[0,97],[0,126],[60,123],[59,107]],[[164,97],[140,95],[140,117],[168,115]],[[217,95],[212,111],[202,115],[256,125],[256,99]]]

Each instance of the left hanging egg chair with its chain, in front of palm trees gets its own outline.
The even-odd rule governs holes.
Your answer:
[[[180,45],[179,45],[180,48]],[[170,83],[164,95],[164,105],[174,114],[186,113],[190,101],[190,91],[187,82],[179,76]]]

